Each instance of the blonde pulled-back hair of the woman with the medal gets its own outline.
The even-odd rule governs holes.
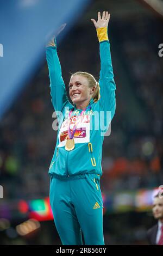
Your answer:
[[[96,91],[93,94],[92,99],[94,102],[97,102],[100,98],[100,93],[99,93],[100,87],[99,87],[99,83],[96,81],[95,77],[87,72],[81,72],[81,71],[78,71],[78,72],[72,74],[71,77],[76,76],[76,75],[86,77],[89,82],[89,88],[92,88],[94,86],[96,87]]]

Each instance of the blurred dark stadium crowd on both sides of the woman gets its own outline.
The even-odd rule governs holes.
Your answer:
[[[111,135],[104,139],[103,192],[163,185],[163,58],[158,56],[158,45],[163,42],[161,25],[158,19],[138,17],[137,21],[113,20],[110,25],[117,107]],[[87,71],[99,77],[98,52],[95,29],[74,27],[58,46],[66,86],[70,72]],[[121,79],[124,68],[130,92],[124,90],[126,84]],[[121,95],[134,97],[139,109],[131,108]],[[126,109],[130,109],[130,115]],[[53,111],[45,62],[0,123],[0,184],[4,198],[48,195],[48,168],[57,136],[52,129]],[[135,113],[141,117],[136,125],[132,121]]]

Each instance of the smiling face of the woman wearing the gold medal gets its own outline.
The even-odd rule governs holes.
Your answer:
[[[89,87],[89,81],[82,75],[74,75],[69,83],[69,94],[72,102],[81,105],[89,102],[95,89]],[[77,107],[78,108],[78,107]]]

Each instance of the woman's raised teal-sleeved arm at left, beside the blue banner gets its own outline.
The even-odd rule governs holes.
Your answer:
[[[71,106],[66,95],[65,83],[62,78],[61,65],[57,54],[56,40],[52,39],[46,47],[46,59],[49,70],[52,103],[57,116],[65,106]]]

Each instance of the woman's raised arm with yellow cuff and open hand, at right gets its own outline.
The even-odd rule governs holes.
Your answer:
[[[116,84],[114,81],[114,74],[111,63],[110,42],[108,39],[108,23],[110,20],[110,14],[108,14],[108,11],[103,11],[103,15],[101,17],[100,12],[98,12],[98,21],[96,22],[93,19],[91,20],[96,27],[99,40],[99,54],[101,59],[101,71],[99,77],[101,99],[99,100],[99,103],[101,104],[101,107],[104,111],[111,111],[112,119],[114,117],[116,108]]]

